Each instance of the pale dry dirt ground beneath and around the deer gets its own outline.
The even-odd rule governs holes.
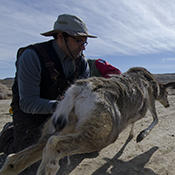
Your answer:
[[[11,121],[8,112],[10,102],[10,99],[0,100],[0,129]],[[169,95],[169,102],[169,108],[156,102],[159,123],[142,142],[136,143],[136,137],[151,124],[152,117],[149,112],[135,124],[135,136],[132,140],[127,140],[129,126],[115,143],[99,153],[70,156],[70,165],[66,158],[61,160],[61,169],[57,175],[174,175],[175,95]],[[5,157],[1,153],[0,167]],[[35,173],[33,171],[30,174]]]

